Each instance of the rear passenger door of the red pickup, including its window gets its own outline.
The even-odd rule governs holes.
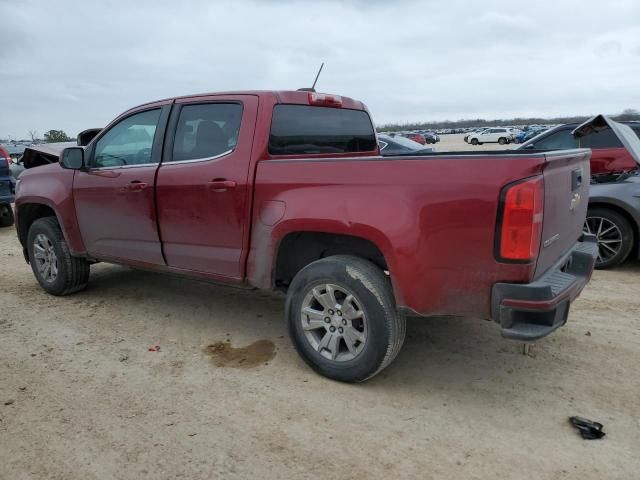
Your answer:
[[[257,110],[254,95],[176,101],[156,185],[167,265],[242,278]]]

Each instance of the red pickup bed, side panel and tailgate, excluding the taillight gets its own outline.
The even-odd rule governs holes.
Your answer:
[[[494,283],[533,281],[581,235],[589,182],[572,192],[571,175],[580,170],[589,178],[589,155],[586,149],[501,150],[261,161],[255,204],[280,202],[285,214],[269,226],[256,209],[250,255],[265,235],[278,239],[301,228],[374,238],[399,306],[489,318]],[[536,175],[545,181],[542,242],[553,240],[541,246],[537,261],[499,262],[494,249],[501,191]],[[570,212],[575,193],[585,201]],[[260,285],[266,272],[256,267],[250,281]]]

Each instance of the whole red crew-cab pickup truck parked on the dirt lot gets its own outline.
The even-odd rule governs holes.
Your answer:
[[[587,149],[381,157],[361,102],[308,91],[171,98],[87,132],[24,157],[44,290],[98,261],[282,290],[298,352],[337,380],[385,368],[407,315],[547,335],[593,270]]]

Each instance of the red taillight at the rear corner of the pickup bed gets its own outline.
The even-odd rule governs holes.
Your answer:
[[[542,176],[507,185],[498,216],[498,260],[527,263],[538,255],[542,235],[544,181]]]

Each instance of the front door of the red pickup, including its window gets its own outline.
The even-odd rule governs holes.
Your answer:
[[[87,149],[87,170],[76,172],[73,193],[91,256],[164,265],[154,187],[169,109],[129,114]]]

